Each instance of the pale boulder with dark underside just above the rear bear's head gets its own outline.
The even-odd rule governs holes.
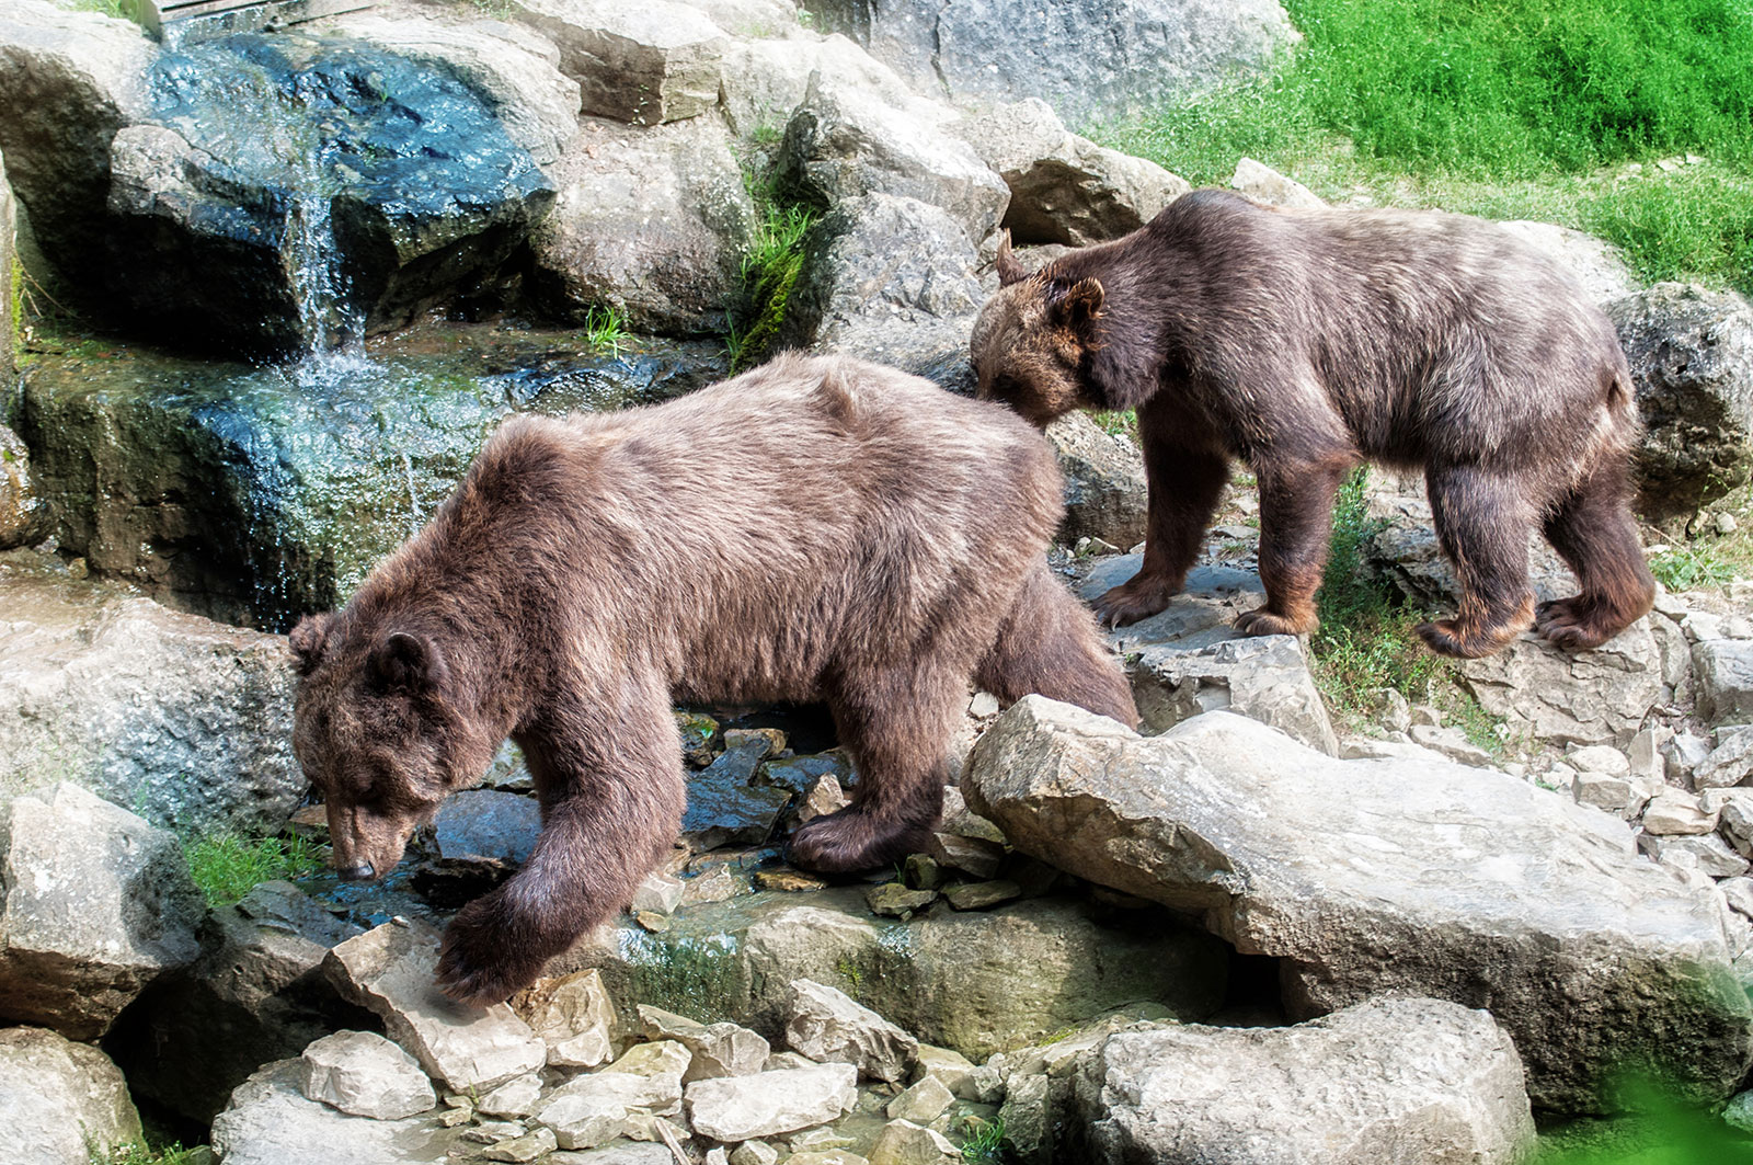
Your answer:
[[[950,132],[1010,186],[1004,226],[1018,244],[1082,247],[1118,239],[1192,189],[1155,161],[1071,133],[1034,96],[957,121]]]

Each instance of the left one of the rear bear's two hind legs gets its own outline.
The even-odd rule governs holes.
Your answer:
[[[1418,635],[1437,654],[1488,656],[1534,621],[1523,486],[1511,474],[1450,465],[1430,467],[1425,490],[1460,602],[1453,619],[1420,623]]]

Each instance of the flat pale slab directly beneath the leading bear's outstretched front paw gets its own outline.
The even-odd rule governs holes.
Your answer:
[[[323,960],[335,990],[384,1019],[393,1040],[451,1091],[484,1091],[547,1063],[547,1044],[505,1004],[486,1011],[445,998],[433,984],[438,935],[384,923]]]

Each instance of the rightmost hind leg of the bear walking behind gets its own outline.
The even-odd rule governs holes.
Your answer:
[[[1636,623],[1655,602],[1655,579],[1630,514],[1622,463],[1602,463],[1546,516],[1544,533],[1581,593],[1541,604],[1534,628],[1564,651],[1586,651]]]

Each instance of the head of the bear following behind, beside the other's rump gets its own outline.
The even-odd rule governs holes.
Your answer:
[[[1089,407],[1089,356],[1101,347],[1101,281],[1057,277],[1052,265],[1031,275],[1011,254],[1010,232],[999,233],[997,277],[999,291],[980,309],[969,340],[976,395],[1040,428]]]

